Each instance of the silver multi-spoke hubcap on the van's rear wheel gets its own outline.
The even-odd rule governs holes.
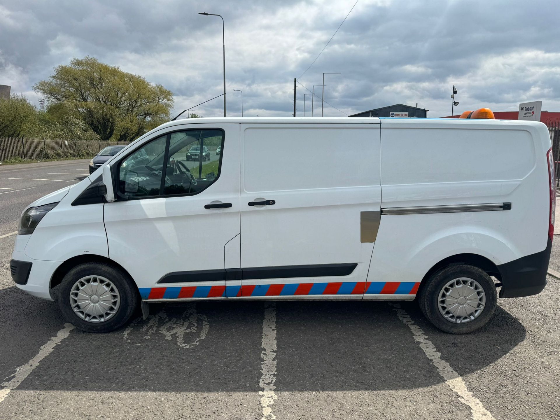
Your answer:
[[[480,284],[468,277],[459,277],[445,284],[438,296],[441,315],[454,324],[476,319],[484,310],[486,293]]]

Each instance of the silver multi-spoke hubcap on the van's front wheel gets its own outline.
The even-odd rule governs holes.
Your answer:
[[[70,291],[70,306],[80,318],[101,323],[115,315],[120,305],[119,291],[107,278],[82,277]]]

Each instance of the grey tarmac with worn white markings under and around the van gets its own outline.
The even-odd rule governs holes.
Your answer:
[[[20,191],[0,195],[0,236],[81,171],[87,161],[1,168],[0,188]],[[0,238],[1,419],[560,418],[553,277],[468,335],[436,330],[414,302],[371,301],[161,304],[87,334],[15,287],[14,240]]]

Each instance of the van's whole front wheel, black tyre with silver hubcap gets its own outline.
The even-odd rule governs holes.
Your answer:
[[[62,279],[58,304],[66,319],[88,333],[107,333],[123,326],[139,304],[128,273],[106,263],[85,263]]]

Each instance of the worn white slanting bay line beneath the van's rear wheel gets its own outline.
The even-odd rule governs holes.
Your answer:
[[[400,304],[390,303],[389,305],[394,307],[397,316],[403,324],[408,325],[410,331],[414,335],[414,339],[418,342],[424,354],[430,359],[433,365],[437,368],[437,371],[444,378],[445,383],[449,385],[456,394],[459,395],[459,401],[470,407],[470,412],[472,413],[473,420],[496,420],[490,414],[490,412],[484,408],[484,405],[476,398],[472,392],[466,389],[466,384],[463,378],[452,368],[449,363],[441,359],[441,353],[436,349],[436,346],[428,340],[428,337],[424,334],[422,328],[414,324],[414,321],[408,315],[407,311],[401,309]]]

